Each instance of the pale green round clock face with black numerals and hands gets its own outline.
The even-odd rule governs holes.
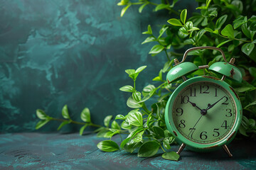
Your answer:
[[[225,138],[237,118],[233,96],[223,86],[210,81],[198,81],[183,88],[171,110],[178,132],[199,144]]]

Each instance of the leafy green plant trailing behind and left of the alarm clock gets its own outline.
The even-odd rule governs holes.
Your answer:
[[[186,50],[192,46],[214,46],[220,47],[224,52],[227,60],[235,57],[237,67],[243,74],[242,84],[233,81],[225,80],[228,84],[235,87],[235,91],[240,96],[243,107],[242,125],[240,126],[240,134],[246,137],[253,137],[256,134],[255,113],[256,113],[256,16],[252,14],[256,11],[256,1],[231,1],[231,0],[198,0],[198,10],[200,13],[193,13],[190,18],[187,17],[187,10],[176,10],[174,5],[177,0],[169,3],[168,0],[162,0],[160,4],[156,4],[149,0],[129,1],[122,0],[117,5],[124,6],[121,16],[132,5],[140,5],[139,12],[141,13],[146,6],[156,6],[154,12],[159,10],[169,11],[177,15],[175,18],[169,19],[159,30],[156,35],[152,32],[151,26],[143,34],[149,35],[142,44],[147,42],[155,42],[156,45],[151,47],[149,54],[152,56],[166,55],[166,63],[159,71],[157,77],[153,81],[159,81],[159,86],[149,84],[142,91],[136,89],[136,80],[139,72],[142,72],[146,66],[135,69],[127,69],[125,72],[134,81],[133,86],[127,85],[120,88],[131,94],[127,99],[127,106],[133,110],[127,115],[117,115],[112,121],[109,128],[112,115],[109,115],[104,120],[104,125],[95,125],[90,121],[90,111],[85,108],[82,111],[81,119],[85,123],[75,122],[70,119],[67,114],[68,109],[64,106],[63,119],[50,118],[46,113],[37,110],[38,118],[42,120],[36,128],[48,123],[49,120],[63,121],[60,128],[68,123],[77,123],[83,125],[80,130],[82,135],[83,130],[87,125],[97,127],[98,137],[107,137],[110,140],[100,142],[97,147],[105,152],[113,152],[124,149],[127,152],[134,152],[138,149],[138,157],[152,157],[159,148],[164,152],[164,159],[178,160],[176,152],[166,152],[171,149],[170,145],[174,142],[174,137],[166,130],[164,122],[164,109],[166,101],[172,91],[182,81],[176,81],[176,84],[167,84],[163,79],[163,74],[168,72],[173,66],[174,59],[182,57],[183,53],[178,51]],[[209,66],[214,62],[222,61],[218,52],[210,50],[197,50],[189,53],[192,55],[191,62],[196,65]],[[200,70],[194,75],[213,75],[213,72],[208,70]],[[218,75],[215,75],[217,76]],[[165,77],[165,76],[164,76]],[[150,104],[149,98],[157,98],[156,103],[151,103],[151,108],[147,108]],[[82,117],[83,116],[83,117]],[[116,121],[117,120],[117,121]],[[118,123],[121,121],[122,123]],[[111,140],[111,137],[116,134],[127,134],[126,139],[122,140],[120,146]],[[121,135],[122,137],[122,135]]]

